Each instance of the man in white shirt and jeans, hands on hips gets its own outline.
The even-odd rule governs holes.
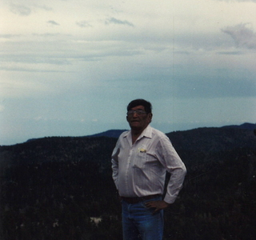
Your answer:
[[[150,126],[150,102],[130,102],[126,119],[130,131],[118,138],[111,160],[122,199],[123,239],[162,240],[163,210],[182,189],[186,167],[166,134]],[[166,170],[171,176],[162,200]]]

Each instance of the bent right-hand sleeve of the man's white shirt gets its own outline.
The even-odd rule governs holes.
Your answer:
[[[165,136],[158,144],[158,156],[162,166],[170,173],[170,181],[166,189],[164,201],[173,203],[182,189],[182,184],[186,176],[186,166],[178,156],[170,139]]]

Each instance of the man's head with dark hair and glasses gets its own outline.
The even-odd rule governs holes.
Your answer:
[[[131,130],[142,132],[152,120],[152,106],[144,99],[136,99],[127,106],[127,122]]]

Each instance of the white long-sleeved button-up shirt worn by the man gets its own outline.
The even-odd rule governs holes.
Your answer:
[[[163,194],[167,170],[171,176],[164,201],[173,203],[186,175],[186,166],[170,139],[151,126],[146,127],[134,144],[130,130],[122,133],[111,162],[114,183],[122,197]]]

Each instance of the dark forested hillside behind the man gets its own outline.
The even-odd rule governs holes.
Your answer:
[[[256,239],[253,130],[200,128],[167,136],[188,173],[165,210],[163,240]],[[116,141],[52,137],[0,146],[0,239],[121,240],[110,164]]]

